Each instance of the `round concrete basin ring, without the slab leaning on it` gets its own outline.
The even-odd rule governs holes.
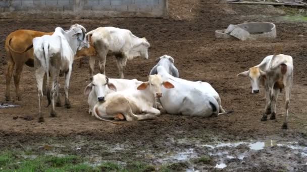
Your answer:
[[[262,38],[276,38],[276,26],[269,22],[250,22],[235,25],[244,29],[249,33],[246,40],[257,40]],[[217,38],[233,38],[231,35],[225,33],[224,30],[216,30],[215,36]]]

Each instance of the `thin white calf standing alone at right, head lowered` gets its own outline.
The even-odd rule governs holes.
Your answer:
[[[259,85],[264,85],[266,91],[266,107],[261,121],[266,121],[267,115],[269,114],[271,114],[271,120],[275,119],[277,98],[282,89],[285,88],[286,115],[284,117],[282,129],[288,128],[288,109],[293,82],[292,61],[292,57],[289,55],[269,55],[257,66],[251,67],[249,70],[237,75],[249,77],[252,94],[259,93]]]

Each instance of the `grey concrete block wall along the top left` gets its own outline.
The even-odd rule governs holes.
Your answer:
[[[168,0],[0,0],[0,18],[165,17]]]

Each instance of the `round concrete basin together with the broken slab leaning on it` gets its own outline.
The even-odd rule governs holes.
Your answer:
[[[242,41],[263,38],[276,38],[276,26],[269,22],[250,22],[239,25],[229,25],[227,29],[216,30],[217,38],[237,38]]]

